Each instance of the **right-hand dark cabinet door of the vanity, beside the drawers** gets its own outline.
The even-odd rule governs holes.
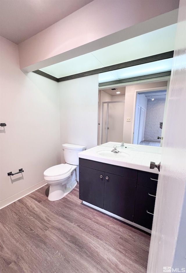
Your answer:
[[[133,222],[135,194],[135,179],[105,172],[105,210]]]

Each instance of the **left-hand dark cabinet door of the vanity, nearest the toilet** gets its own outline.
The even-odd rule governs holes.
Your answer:
[[[79,199],[103,209],[104,175],[99,170],[80,166]]]

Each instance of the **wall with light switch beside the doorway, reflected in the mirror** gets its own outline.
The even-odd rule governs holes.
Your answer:
[[[126,143],[133,143],[133,128],[134,128],[134,116],[135,116],[135,101],[136,90],[146,89],[148,91],[151,88],[167,86],[167,81],[153,82],[147,84],[136,84],[126,86],[125,89],[125,112],[124,112],[124,133],[123,141]],[[145,91],[145,90],[144,90]],[[127,122],[127,117],[131,118],[130,122]]]

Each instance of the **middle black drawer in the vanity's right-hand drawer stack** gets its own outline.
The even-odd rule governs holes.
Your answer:
[[[151,213],[154,212],[156,190],[137,185],[136,188],[136,202],[145,204]]]

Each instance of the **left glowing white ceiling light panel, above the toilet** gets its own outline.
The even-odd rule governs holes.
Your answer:
[[[102,67],[104,67],[103,64],[92,53],[87,53],[40,70],[56,78],[61,78]]]

